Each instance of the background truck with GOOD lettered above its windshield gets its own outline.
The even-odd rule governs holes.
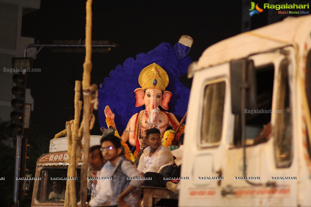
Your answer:
[[[90,146],[99,145],[101,136],[92,135],[90,137]],[[82,139],[82,144],[84,139]],[[24,190],[31,191],[31,207],[36,206],[64,206],[63,199],[49,199],[49,194],[52,192],[53,181],[58,180],[63,189],[66,188],[67,169],[69,164],[66,159],[67,154],[67,137],[61,137],[50,140],[49,153],[42,155],[36,162],[35,171],[29,171],[26,177],[31,177],[33,180],[26,180],[24,182]],[[77,207],[81,206],[80,186],[81,186],[81,167],[84,158],[84,153],[81,151],[81,160],[79,160],[76,167],[77,177],[76,192],[77,192]],[[64,179],[64,180],[63,180]],[[70,178],[69,178],[70,179]],[[33,183],[30,183],[32,182]],[[89,184],[91,181],[88,181]],[[91,195],[92,189],[88,189],[88,195]]]

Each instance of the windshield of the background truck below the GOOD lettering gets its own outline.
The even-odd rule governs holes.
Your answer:
[[[81,169],[77,168],[76,177],[76,194],[77,202],[80,200],[80,173]],[[40,170],[39,177],[41,180],[37,186],[37,200],[47,202],[64,202],[67,178],[67,167],[59,166],[56,168],[46,167]]]

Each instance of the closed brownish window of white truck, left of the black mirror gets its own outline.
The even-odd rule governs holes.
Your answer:
[[[210,146],[208,144],[216,144],[220,141],[224,103],[225,81],[212,83],[205,87],[200,142],[202,146]]]

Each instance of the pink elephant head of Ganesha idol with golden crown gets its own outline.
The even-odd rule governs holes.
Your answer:
[[[172,93],[165,91],[169,84],[169,76],[156,63],[148,65],[139,75],[138,83],[142,88],[136,88],[136,106],[145,105],[148,113],[148,124],[155,124],[159,117],[159,106],[169,109]]]

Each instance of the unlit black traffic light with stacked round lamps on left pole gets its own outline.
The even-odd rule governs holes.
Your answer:
[[[23,134],[24,125],[24,110],[25,110],[25,94],[26,94],[26,74],[14,74],[13,82],[16,84],[12,88],[12,93],[15,98],[11,101],[13,111],[11,118],[13,124],[10,128],[14,136]]]

